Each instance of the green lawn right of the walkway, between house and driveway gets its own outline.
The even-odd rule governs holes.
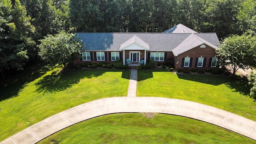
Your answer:
[[[138,71],[137,96],[198,102],[256,121],[256,103],[245,79],[221,75]]]

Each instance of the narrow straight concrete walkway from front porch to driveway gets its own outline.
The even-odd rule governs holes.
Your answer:
[[[135,97],[137,88],[137,70],[132,69],[130,75],[130,83],[128,88],[128,96]]]

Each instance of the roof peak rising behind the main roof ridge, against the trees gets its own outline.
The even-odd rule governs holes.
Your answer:
[[[198,33],[198,32],[184,26],[183,24],[178,24],[177,26],[174,26],[162,33],[175,33],[175,34],[176,33],[178,33],[178,34],[190,33],[190,34],[192,34],[192,33]]]

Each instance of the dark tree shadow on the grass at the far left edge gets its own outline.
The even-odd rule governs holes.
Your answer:
[[[34,64],[23,70],[20,74],[0,82],[0,101],[18,96],[20,90],[29,82],[40,78],[47,71],[53,70],[54,66],[45,63]]]

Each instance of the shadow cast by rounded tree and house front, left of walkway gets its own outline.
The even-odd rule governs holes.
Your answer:
[[[44,76],[44,78],[35,84],[37,86],[36,92],[55,94],[56,92],[71,88],[78,84],[83,78],[98,77],[106,72],[122,72],[122,78],[130,78],[130,71],[115,69],[70,70],[66,72],[54,71],[52,74]]]

